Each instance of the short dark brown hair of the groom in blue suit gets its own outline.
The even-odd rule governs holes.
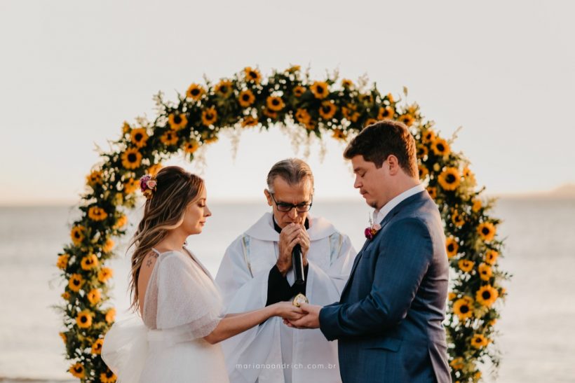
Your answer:
[[[383,120],[365,127],[346,147],[344,158],[363,155],[379,169],[392,154],[405,173],[418,177],[415,140],[407,126],[398,121]]]

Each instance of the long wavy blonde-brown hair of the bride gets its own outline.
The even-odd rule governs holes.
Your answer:
[[[156,183],[156,190],[144,204],[144,216],[128,246],[128,249],[135,246],[129,284],[132,309],[139,306],[137,281],[144,257],[170,230],[182,225],[186,208],[199,199],[204,189],[203,179],[177,166],[161,169]]]

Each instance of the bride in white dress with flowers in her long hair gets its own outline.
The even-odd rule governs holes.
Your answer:
[[[294,321],[303,312],[278,302],[223,316],[210,273],[184,247],[211,215],[203,180],[181,167],[165,167],[156,178],[142,177],[140,187],[147,202],[130,244],[130,291],[141,319],[114,323],[102,358],[120,383],[228,382],[218,342],[272,316]]]

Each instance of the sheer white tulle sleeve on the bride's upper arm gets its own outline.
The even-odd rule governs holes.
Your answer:
[[[182,253],[166,254],[158,267],[158,330],[185,328],[194,338],[210,334],[223,309],[212,279]]]

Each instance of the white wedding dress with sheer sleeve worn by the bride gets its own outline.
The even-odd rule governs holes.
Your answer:
[[[158,253],[143,323],[140,316],[114,323],[102,358],[119,383],[229,382],[219,344],[203,340],[222,312],[210,273],[191,253]]]

